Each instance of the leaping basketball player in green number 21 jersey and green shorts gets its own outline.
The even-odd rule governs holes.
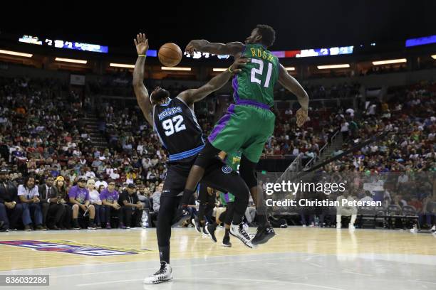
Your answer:
[[[274,43],[275,31],[271,26],[258,25],[246,38],[245,44],[209,43],[205,40],[190,41],[186,51],[232,55],[234,58],[249,58],[245,68],[233,78],[235,104],[229,106],[227,114],[215,125],[208,143],[199,153],[192,166],[182,197],[182,208],[194,193],[197,183],[204,175],[204,168],[217,158],[219,151],[235,152],[242,150],[239,173],[250,188],[256,203],[259,227],[251,240],[253,245],[267,242],[275,233],[266,217],[264,195],[258,190],[255,168],[264,149],[264,144],[274,132],[275,115],[270,108],[274,105],[274,85],[279,82],[294,93],[301,108],[296,112],[296,122],[301,127],[308,118],[308,95],[294,77],[286,72],[268,47]],[[230,232],[237,233],[243,227],[233,225]]]

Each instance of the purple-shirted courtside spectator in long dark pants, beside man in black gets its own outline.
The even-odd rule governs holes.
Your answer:
[[[119,198],[118,191],[115,190],[115,181],[110,180],[108,182],[108,188],[105,188],[100,193],[100,200],[105,207],[105,220],[106,229],[111,229],[110,226],[110,216],[118,215],[118,220],[120,221],[120,228],[125,229],[125,225],[123,223],[123,211],[121,210],[121,206],[118,204]]]

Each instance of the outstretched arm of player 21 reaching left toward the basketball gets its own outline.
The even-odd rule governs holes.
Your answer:
[[[202,53],[213,53],[216,55],[233,55],[240,56],[244,49],[244,43],[232,42],[232,43],[209,43],[204,39],[197,39],[190,41],[186,45],[185,51],[190,55],[193,55],[195,51]]]

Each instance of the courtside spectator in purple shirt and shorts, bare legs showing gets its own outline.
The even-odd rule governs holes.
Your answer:
[[[89,213],[89,230],[95,230],[94,217],[95,208],[94,205],[90,205],[89,201],[89,191],[86,186],[85,178],[79,178],[77,186],[73,186],[70,191],[68,191],[68,197],[70,198],[70,204],[73,208],[73,229],[80,230],[81,227],[78,224],[78,214],[79,212],[83,215]]]

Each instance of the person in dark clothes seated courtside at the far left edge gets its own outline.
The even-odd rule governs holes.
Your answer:
[[[8,181],[6,168],[0,170],[0,227],[1,232],[16,230],[16,223],[23,214],[23,205],[18,203],[17,188]]]

